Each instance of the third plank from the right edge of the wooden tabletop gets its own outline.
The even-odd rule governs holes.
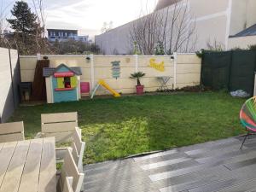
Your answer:
[[[26,163],[26,154],[30,141],[17,143],[13,157],[9,163],[8,170],[3,178],[0,192],[17,192],[20,185],[20,178]]]

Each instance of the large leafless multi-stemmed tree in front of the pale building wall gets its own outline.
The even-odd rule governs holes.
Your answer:
[[[176,0],[172,6],[134,21],[130,36],[144,55],[153,55],[157,44],[163,44],[165,53],[172,55],[195,50],[195,29],[188,0]]]

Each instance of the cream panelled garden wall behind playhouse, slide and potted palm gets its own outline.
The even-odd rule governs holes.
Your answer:
[[[90,90],[95,87],[99,79],[103,79],[113,90],[124,94],[134,93],[136,80],[130,79],[130,76],[135,71],[146,73],[142,79],[145,91],[157,90],[160,86],[157,77],[160,76],[172,77],[168,82],[170,89],[175,86],[175,76],[177,88],[200,83],[201,59],[195,54],[177,54],[176,62],[169,55],[93,55],[90,61],[86,61],[86,55],[48,55],[48,57],[50,67],[57,67],[61,63],[69,67],[81,67],[81,82],[90,82]],[[163,61],[165,71],[160,72],[150,67],[151,59],[155,59],[156,63]],[[119,79],[114,79],[112,76],[112,61],[120,61]],[[176,71],[174,63],[176,63]],[[20,56],[21,81],[33,80],[36,64],[36,56]],[[105,89],[96,91],[96,95],[107,93]]]

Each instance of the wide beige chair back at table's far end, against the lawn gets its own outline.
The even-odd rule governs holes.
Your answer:
[[[41,114],[40,137],[55,137],[56,143],[70,142],[77,126],[77,112]]]

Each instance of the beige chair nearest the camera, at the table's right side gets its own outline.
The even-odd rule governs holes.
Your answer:
[[[67,181],[68,178],[68,181]],[[72,182],[71,179],[72,178]],[[73,160],[72,152],[67,148],[64,163],[61,167],[61,176],[58,181],[58,191],[64,191],[65,184],[72,183],[73,192],[80,192],[84,181],[84,173],[79,172],[78,166]]]

